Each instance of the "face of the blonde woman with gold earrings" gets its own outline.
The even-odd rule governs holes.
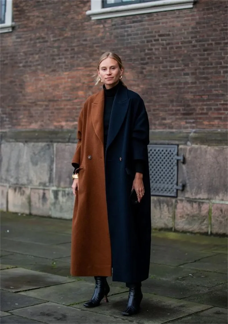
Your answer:
[[[118,84],[120,75],[123,74],[123,68],[120,69],[118,62],[108,57],[101,62],[97,73],[105,84],[106,89],[110,89]]]

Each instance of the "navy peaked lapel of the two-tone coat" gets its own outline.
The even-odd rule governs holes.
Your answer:
[[[120,130],[129,107],[129,101],[130,99],[127,95],[127,88],[123,85],[120,85],[112,106],[106,149],[113,142],[114,138]]]

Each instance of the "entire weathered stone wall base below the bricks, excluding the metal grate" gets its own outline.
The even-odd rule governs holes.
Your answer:
[[[227,234],[227,131],[151,131],[150,144],[178,145],[177,198],[151,197],[154,229]],[[1,132],[1,210],[71,219],[76,130]]]

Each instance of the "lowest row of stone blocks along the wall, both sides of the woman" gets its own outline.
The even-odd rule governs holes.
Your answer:
[[[72,218],[74,196],[71,189],[1,185],[0,190],[3,211]],[[151,197],[153,229],[227,235],[227,216],[228,204],[224,201]]]

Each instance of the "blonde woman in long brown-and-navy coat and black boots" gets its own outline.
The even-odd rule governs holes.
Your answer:
[[[71,274],[95,277],[85,307],[108,301],[106,277],[125,282],[129,298],[122,315],[128,316],[139,312],[141,282],[149,272],[149,122],[143,100],[122,83],[123,72],[120,57],[104,53],[96,78],[103,89],[85,101],[79,115]]]

